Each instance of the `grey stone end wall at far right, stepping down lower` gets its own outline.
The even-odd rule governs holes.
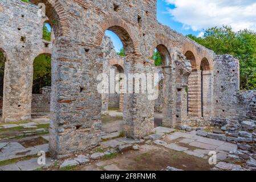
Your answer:
[[[256,90],[239,90],[239,60],[230,55],[214,59],[214,115],[255,119]]]

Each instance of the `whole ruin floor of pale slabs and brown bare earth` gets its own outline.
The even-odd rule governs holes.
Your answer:
[[[168,166],[182,170],[242,168],[226,161],[229,152],[237,150],[236,144],[200,137],[196,131],[176,131],[165,127],[156,127],[155,134],[144,139],[128,139],[121,132],[122,113],[109,111],[107,117],[103,119],[99,147],[66,160],[55,161],[47,157],[45,165],[37,163],[37,154],[38,151],[47,154],[48,134],[3,138],[0,140],[0,170],[161,170]],[[31,133],[42,129],[38,127],[48,122],[47,117],[40,117],[29,122],[0,124],[0,134],[1,131],[20,127]],[[209,164],[210,151],[217,153],[217,165]]]

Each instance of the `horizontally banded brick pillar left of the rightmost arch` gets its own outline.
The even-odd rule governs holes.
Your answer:
[[[193,71],[188,80],[189,117],[202,117],[201,71]]]

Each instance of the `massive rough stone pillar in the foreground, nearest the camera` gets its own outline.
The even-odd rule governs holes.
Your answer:
[[[53,158],[63,158],[99,145],[101,94],[97,92],[97,76],[103,72],[103,59],[100,46],[64,37],[56,38],[55,43],[49,151]]]

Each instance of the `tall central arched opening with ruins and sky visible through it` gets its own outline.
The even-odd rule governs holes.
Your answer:
[[[113,37],[106,35],[112,34]],[[110,33],[109,33],[110,32]],[[118,93],[116,85],[122,86],[123,77],[121,75],[127,74],[125,70],[125,62],[132,63],[132,56],[134,53],[133,40],[129,36],[128,32],[120,26],[111,26],[104,32],[104,37],[101,40],[101,47],[103,48],[103,72],[109,76],[109,93],[101,94],[101,109],[103,109],[103,115],[101,116],[101,130],[107,133],[120,132],[126,135],[131,134],[127,128],[130,122],[125,122],[124,115],[129,116],[127,103],[129,102],[128,96],[125,93]],[[115,50],[113,42],[119,41],[121,44],[120,51]],[[107,63],[107,64],[105,64]],[[127,72],[126,72],[127,71]],[[126,73],[125,73],[126,72]],[[119,78],[117,79],[117,76]],[[114,81],[113,81],[114,80]],[[113,89],[114,88],[114,89]],[[125,104],[126,103],[126,104]]]

